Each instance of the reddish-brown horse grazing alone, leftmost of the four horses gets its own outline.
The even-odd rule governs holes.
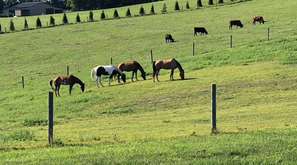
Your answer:
[[[55,88],[52,87],[52,82],[54,83]],[[85,91],[85,83],[83,83],[81,80],[79,80],[77,77],[75,77],[73,75],[56,76],[49,80],[49,87],[51,87],[52,90],[55,91],[56,96],[57,96],[57,91],[58,91],[58,95],[60,96],[59,90],[60,90],[61,84],[69,85],[69,94],[71,94],[71,89],[75,83],[78,83],[81,85],[82,92]]]

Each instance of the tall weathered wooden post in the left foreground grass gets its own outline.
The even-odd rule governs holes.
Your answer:
[[[52,143],[53,135],[53,92],[49,91],[48,101],[48,142]]]

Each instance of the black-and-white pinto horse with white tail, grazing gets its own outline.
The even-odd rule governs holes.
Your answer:
[[[94,74],[97,76],[96,80],[94,80]],[[123,82],[126,82],[126,75],[117,67],[115,67],[114,65],[107,65],[107,66],[97,66],[95,68],[92,69],[91,71],[91,77],[93,81],[96,81],[97,86],[98,85],[98,80],[101,84],[101,86],[103,87],[102,83],[101,83],[101,76],[105,75],[105,76],[109,76],[109,81],[108,81],[108,86],[110,86],[110,82],[112,80],[112,76],[114,75],[120,75],[122,77]]]

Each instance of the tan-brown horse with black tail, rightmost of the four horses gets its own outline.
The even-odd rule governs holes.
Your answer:
[[[158,74],[160,69],[171,69],[171,74],[170,74],[170,80],[173,79],[173,72],[174,70],[178,68],[180,70],[180,77],[182,80],[185,79],[185,72],[179,62],[177,62],[174,58],[168,59],[168,60],[157,60],[152,62],[152,77],[153,77],[153,82],[154,82],[154,76],[156,75],[157,81],[158,80]]]

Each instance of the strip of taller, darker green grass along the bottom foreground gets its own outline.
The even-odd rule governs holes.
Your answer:
[[[3,164],[295,164],[297,129],[2,150]]]

